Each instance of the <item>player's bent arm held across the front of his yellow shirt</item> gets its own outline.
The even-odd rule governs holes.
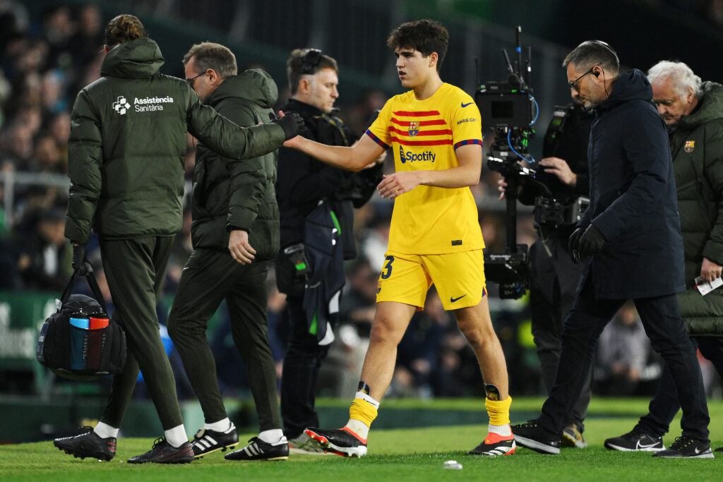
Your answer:
[[[377,189],[382,197],[394,199],[419,184],[436,187],[466,187],[479,183],[482,171],[482,146],[463,145],[456,150],[459,165],[443,171],[401,171],[384,176]]]

